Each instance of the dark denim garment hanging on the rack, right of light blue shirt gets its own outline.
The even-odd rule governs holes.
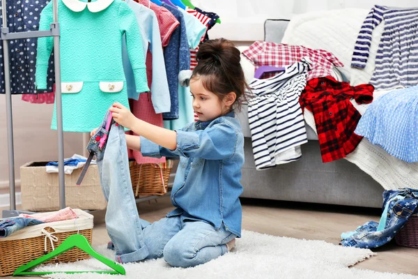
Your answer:
[[[187,43],[186,24],[183,13],[177,8],[162,3],[164,8],[172,13],[180,25],[173,31],[170,42],[164,47],[164,61],[167,71],[167,80],[169,81],[171,110],[162,114],[164,120],[178,119],[178,73],[180,70],[189,70],[190,68],[190,50]]]

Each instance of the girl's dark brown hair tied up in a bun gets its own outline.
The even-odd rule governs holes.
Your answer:
[[[235,92],[234,105],[240,109],[242,100],[247,100],[246,91],[249,92],[240,64],[240,50],[224,38],[208,40],[200,45],[196,59],[198,63],[190,79],[199,77],[203,87],[221,100],[229,92]]]

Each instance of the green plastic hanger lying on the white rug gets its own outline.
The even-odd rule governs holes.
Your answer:
[[[103,264],[106,264],[114,271],[43,271],[43,272],[29,272],[29,269],[33,269],[33,267],[38,266],[39,264],[42,264],[44,262],[47,262],[49,259],[52,259],[53,257],[56,257],[63,252],[67,252],[68,250],[72,248],[79,248],[86,252],[88,255],[91,255],[91,257],[94,257],[95,259],[98,259]],[[13,276],[42,276],[52,273],[68,273],[68,274],[75,274],[75,273],[86,273],[86,272],[94,272],[94,273],[104,273],[104,274],[122,274],[125,275],[125,269],[121,264],[116,264],[115,262],[111,261],[110,259],[107,259],[107,257],[103,257],[98,252],[93,250],[91,248],[90,243],[88,243],[85,236],[82,234],[73,234],[72,236],[69,236],[59,247],[57,247],[54,251],[49,252],[47,255],[40,257],[39,259],[34,259],[32,262],[29,262],[25,264],[24,266],[20,266],[18,269],[16,269],[15,273],[13,273]]]

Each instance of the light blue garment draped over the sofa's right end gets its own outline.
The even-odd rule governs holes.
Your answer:
[[[418,86],[396,89],[375,100],[354,132],[396,158],[418,162]]]

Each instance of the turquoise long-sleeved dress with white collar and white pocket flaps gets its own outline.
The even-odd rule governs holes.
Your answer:
[[[137,19],[121,0],[58,0],[61,28],[63,129],[90,132],[114,102],[129,107],[122,63],[122,38],[138,92],[149,91],[144,49]],[[40,30],[53,21],[52,1],[42,10]],[[38,39],[36,86],[47,86],[53,38]],[[56,107],[51,128],[56,129]]]

